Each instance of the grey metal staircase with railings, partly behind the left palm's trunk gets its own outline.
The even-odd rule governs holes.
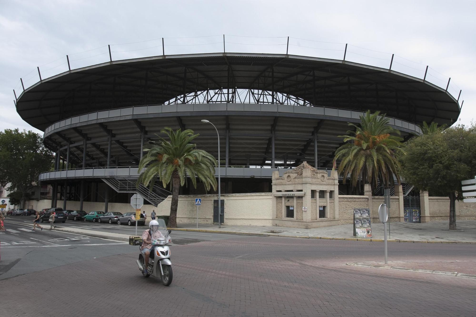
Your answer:
[[[157,207],[167,196],[172,193],[168,190],[161,188],[159,185],[154,184],[152,191],[144,185],[136,185],[135,179],[129,178],[101,178],[106,184],[118,193],[137,193],[142,195],[144,199],[149,201],[152,205]]]

